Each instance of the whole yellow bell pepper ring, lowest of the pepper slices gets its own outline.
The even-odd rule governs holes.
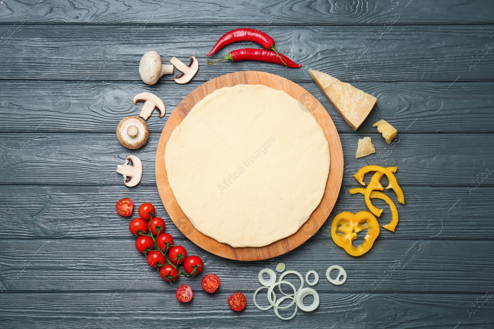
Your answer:
[[[357,239],[357,233],[367,229],[364,242],[354,247],[352,242]],[[334,243],[343,248],[352,256],[360,256],[367,253],[379,235],[379,223],[368,211],[361,211],[357,214],[343,212],[336,215],[331,223],[331,238]]]

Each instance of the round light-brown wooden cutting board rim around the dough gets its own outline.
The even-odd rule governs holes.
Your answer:
[[[171,132],[182,122],[187,113],[202,100],[206,95],[214,90],[226,86],[233,87],[237,84],[263,84],[273,89],[284,90],[288,95],[299,100],[316,118],[319,125],[324,130],[329,142],[330,168],[328,183],[323,199],[314,210],[309,219],[296,233],[273,242],[264,247],[257,248],[233,248],[230,245],[219,243],[218,241],[202,234],[191,224],[187,216],[177,204],[173,192],[168,184],[168,177],[165,170],[165,147]],[[303,108],[303,107],[301,107]],[[242,71],[218,76],[202,84],[173,110],[168,121],[163,128],[158,149],[156,151],[156,183],[160,197],[165,205],[165,209],[171,220],[180,231],[204,250],[225,258],[237,260],[260,260],[276,257],[295,249],[314,235],[321,225],[328,219],[329,213],[333,209],[338,197],[341,180],[343,178],[343,149],[339,140],[338,132],[326,109],[307,90],[298,84],[281,77],[279,75],[258,71]]]

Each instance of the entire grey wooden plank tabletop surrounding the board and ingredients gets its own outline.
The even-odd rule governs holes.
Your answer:
[[[494,328],[494,2],[236,2],[0,1],[0,327]],[[269,33],[302,68],[206,66],[214,42],[237,27]],[[147,50],[164,59],[195,55],[200,71],[186,85],[171,77],[145,85],[137,67]],[[309,68],[378,98],[357,132]],[[256,262],[219,258],[188,241],[166,215],[154,174],[171,110],[205,81],[242,70],[279,74],[316,96],[345,156],[326,224],[288,254]],[[149,143],[130,151],[114,132],[138,113],[132,98],[143,91],[159,95],[168,111],[148,120]],[[381,118],[399,131],[389,146],[371,127]],[[355,159],[364,136],[376,154]],[[145,168],[132,189],[115,173],[127,154]],[[332,242],[329,226],[339,212],[366,210],[347,189],[360,186],[352,174],[367,164],[398,166],[407,203],[399,205],[396,232],[382,230],[372,250],[355,258]],[[180,304],[175,288],[135,250],[128,220],[115,213],[123,197],[157,205],[175,241],[220,276],[220,290],[206,295],[200,278],[181,279],[196,294]],[[283,322],[254,307],[258,271],[277,262],[319,273],[316,311]],[[325,279],[332,264],[346,269],[344,285]],[[247,296],[241,313],[226,303],[236,291]]]

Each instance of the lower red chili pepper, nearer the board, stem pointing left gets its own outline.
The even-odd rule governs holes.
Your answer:
[[[278,57],[280,56],[280,57]],[[283,66],[288,66],[292,69],[298,69],[302,66],[302,64],[297,64],[289,59],[287,56],[283,54],[277,54],[272,50],[267,49],[258,49],[258,48],[243,48],[232,50],[225,56],[225,58],[219,59],[212,63],[209,63],[209,60],[206,61],[207,64],[211,65],[214,63],[218,63],[221,61],[229,60],[230,62],[238,62],[238,61],[259,61],[259,62],[268,62],[280,64]],[[286,65],[282,62],[285,62]]]

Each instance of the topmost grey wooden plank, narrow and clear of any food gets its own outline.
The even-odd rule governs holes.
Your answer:
[[[461,5],[461,7],[460,7]],[[161,25],[365,25],[494,23],[488,0],[263,1],[108,0],[76,2],[19,0],[3,3],[2,22]],[[463,11],[464,10],[464,11]],[[467,14],[468,13],[468,14]]]

